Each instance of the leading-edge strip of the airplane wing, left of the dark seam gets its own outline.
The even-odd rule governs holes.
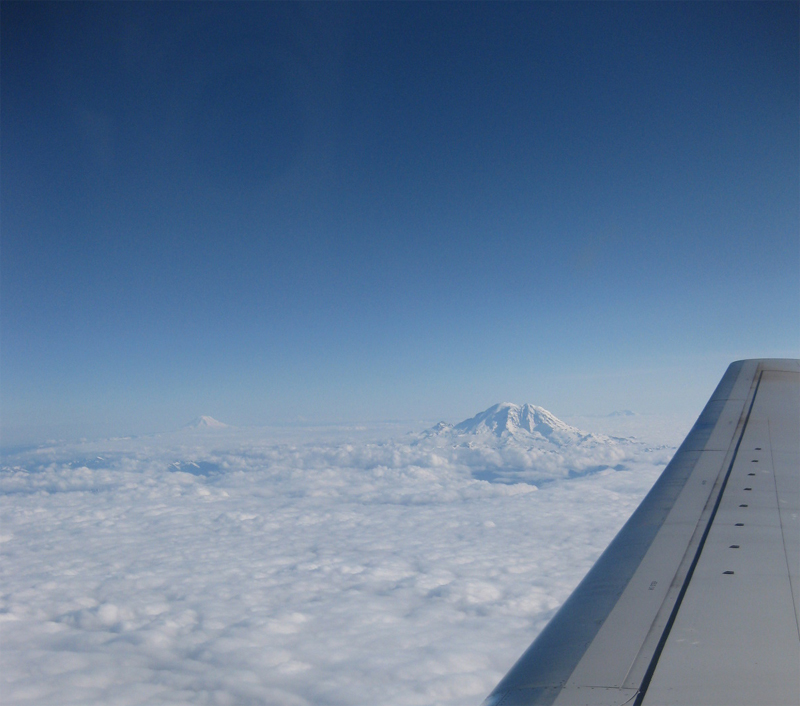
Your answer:
[[[485,706],[640,696],[707,538],[761,371],[793,365],[731,364],[653,489]]]

